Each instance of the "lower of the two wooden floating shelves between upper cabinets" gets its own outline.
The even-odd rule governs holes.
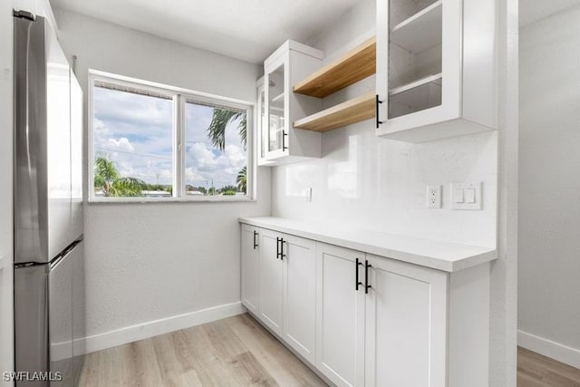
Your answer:
[[[375,116],[376,93],[368,92],[361,97],[339,103],[332,108],[295,121],[294,127],[306,131],[332,131]]]

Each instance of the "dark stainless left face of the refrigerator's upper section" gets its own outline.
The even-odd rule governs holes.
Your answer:
[[[14,18],[14,264],[48,262],[43,19]]]

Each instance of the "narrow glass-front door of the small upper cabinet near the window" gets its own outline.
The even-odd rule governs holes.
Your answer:
[[[287,90],[285,87],[286,62],[275,63],[266,69],[267,144],[266,159],[283,157],[288,149]]]

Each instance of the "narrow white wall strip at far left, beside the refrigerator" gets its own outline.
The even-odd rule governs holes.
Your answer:
[[[12,53],[13,17],[12,2],[0,2],[0,256],[4,269],[0,269],[0,384],[1,373],[14,370],[13,331],[13,216],[12,216]]]

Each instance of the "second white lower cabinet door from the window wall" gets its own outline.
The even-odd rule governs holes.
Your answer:
[[[259,267],[259,319],[282,336],[284,261],[277,255],[281,234],[262,229]]]

